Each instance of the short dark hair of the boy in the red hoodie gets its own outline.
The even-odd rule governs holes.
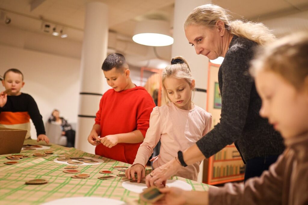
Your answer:
[[[128,67],[125,57],[119,53],[112,53],[107,56],[102,65],[103,71],[109,71],[112,68],[120,69],[123,67]]]

